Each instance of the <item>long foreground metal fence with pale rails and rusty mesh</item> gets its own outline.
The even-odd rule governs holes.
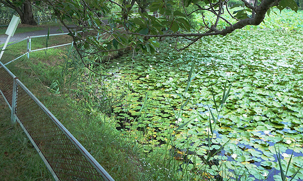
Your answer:
[[[45,48],[35,50],[41,49]],[[20,124],[55,180],[114,180],[1,61],[0,93],[12,111],[11,120]]]

